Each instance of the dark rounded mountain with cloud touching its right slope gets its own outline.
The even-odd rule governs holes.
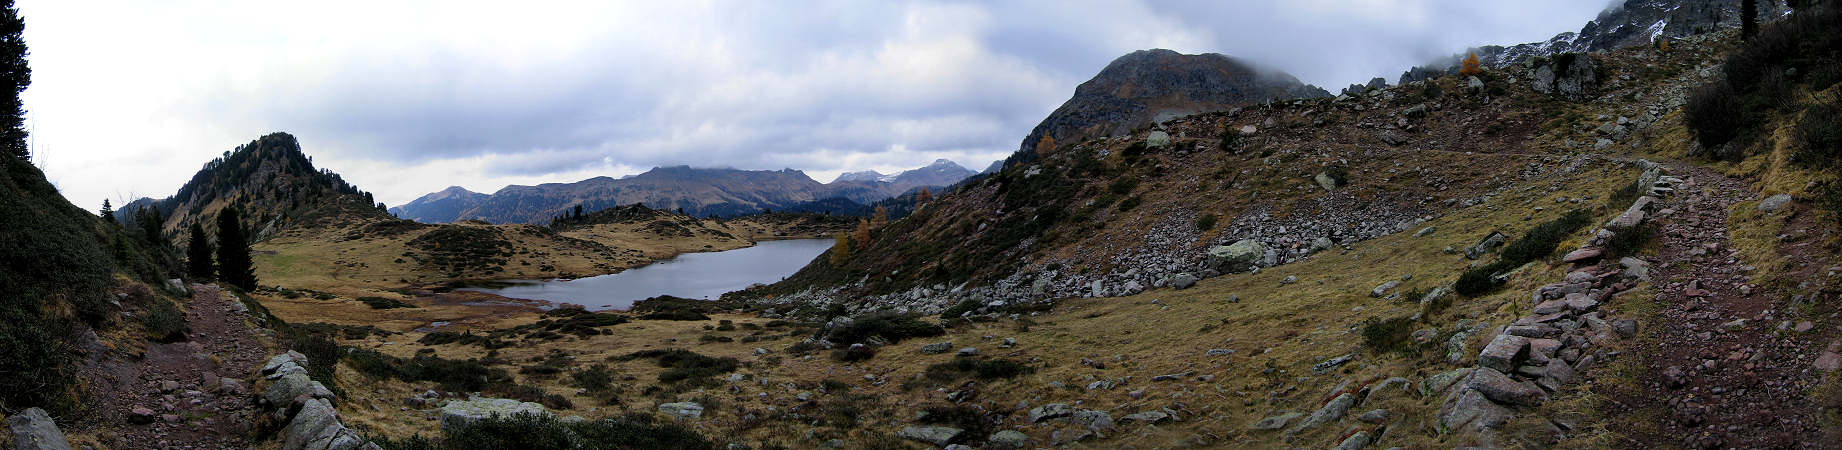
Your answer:
[[[1044,136],[1074,144],[1125,135],[1157,120],[1223,111],[1234,103],[1323,96],[1330,92],[1286,72],[1262,70],[1221,53],[1138,50],[1113,59],[1100,74],[1076,87],[1068,101],[1030,131],[1019,153],[1033,151]]]

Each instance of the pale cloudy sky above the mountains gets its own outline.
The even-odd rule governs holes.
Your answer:
[[[76,205],[166,197],[287,131],[402,205],[446,186],[971,170],[1118,55],[1225,53],[1339,90],[1606,0],[18,0],[35,162]]]

